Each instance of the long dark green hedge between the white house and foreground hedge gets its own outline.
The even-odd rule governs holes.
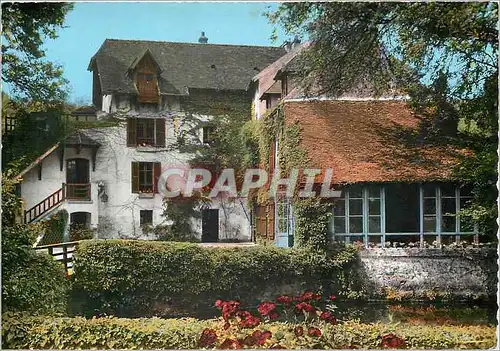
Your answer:
[[[257,301],[308,289],[346,296],[360,287],[356,250],[327,254],[276,247],[203,248],[190,243],[127,240],[82,242],[75,254],[75,314],[172,316],[216,299]],[[351,269],[352,268],[352,269]],[[352,294],[351,294],[352,295]],[[352,297],[352,296],[349,296]],[[215,310],[214,310],[215,311]]]

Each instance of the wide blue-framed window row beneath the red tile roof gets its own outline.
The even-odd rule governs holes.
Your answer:
[[[477,241],[477,226],[460,218],[472,195],[451,183],[355,185],[333,204],[330,231],[336,240],[450,243]]]

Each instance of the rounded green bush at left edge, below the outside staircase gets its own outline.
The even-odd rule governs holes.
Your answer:
[[[68,281],[64,267],[31,247],[33,233],[25,226],[2,232],[2,309],[33,314],[66,311]]]

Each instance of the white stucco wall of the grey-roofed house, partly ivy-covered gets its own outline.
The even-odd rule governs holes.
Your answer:
[[[114,99],[113,99],[114,100]],[[161,162],[162,170],[169,166],[186,165],[190,159],[187,153],[181,153],[174,147],[177,136],[174,128],[174,117],[183,118],[179,111],[178,101],[174,98],[166,99],[162,112],[129,111],[124,112],[123,123],[120,126],[93,129],[87,131],[101,147],[96,156],[96,169],[92,171],[91,151],[83,149],[79,155],[76,150],[68,148],[64,153],[64,168],[59,169],[57,151],[43,161],[42,180],[38,180],[37,168],[33,168],[24,177],[21,186],[21,195],[25,199],[26,209],[31,208],[39,201],[59,189],[66,181],[66,160],[74,157],[87,158],[90,162],[90,181],[92,187],[92,201],[66,202],[62,207],[71,214],[73,212],[90,212],[93,227],[98,228],[98,237],[107,238],[135,238],[154,239],[142,233],[140,228],[140,211],[153,211],[153,225],[165,224],[167,218],[162,216],[163,198],[160,194],[140,195],[132,193],[132,162]],[[119,99],[119,108],[126,109],[125,103]],[[110,107],[111,108],[111,107]],[[116,109],[116,106],[113,106]],[[165,119],[165,148],[154,147],[127,147],[127,116],[140,118]],[[209,116],[199,116],[201,121],[209,120]],[[180,123],[182,128],[182,123]],[[199,137],[201,138],[201,130]],[[98,184],[104,186],[108,196],[103,202],[98,196]],[[243,204],[243,207],[242,207]],[[219,238],[250,240],[249,211],[246,210],[246,200],[241,201],[214,201],[212,208],[219,209]],[[201,219],[193,221],[193,229],[201,238]]]

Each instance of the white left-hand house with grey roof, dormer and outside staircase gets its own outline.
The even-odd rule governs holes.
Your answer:
[[[206,39],[104,41],[88,68],[93,107],[73,113],[95,128],[55,144],[19,175],[26,222],[65,209],[71,223],[97,229],[98,238],[154,238],[145,228],[169,224],[157,182],[165,168],[188,163],[180,141],[208,143],[210,102],[249,113],[248,82],[285,54]],[[204,209],[192,223],[198,237],[250,240],[250,213],[240,200]]]

